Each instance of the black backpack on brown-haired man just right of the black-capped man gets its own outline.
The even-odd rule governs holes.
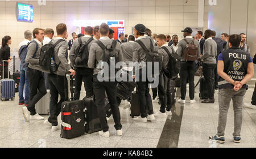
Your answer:
[[[176,53],[170,53],[170,51],[166,48],[166,46],[162,47],[166,53],[169,55],[169,62],[167,70],[164,70],[164,74],[171,79],[177,77],[177,74],[180,72],[180,56]]]

